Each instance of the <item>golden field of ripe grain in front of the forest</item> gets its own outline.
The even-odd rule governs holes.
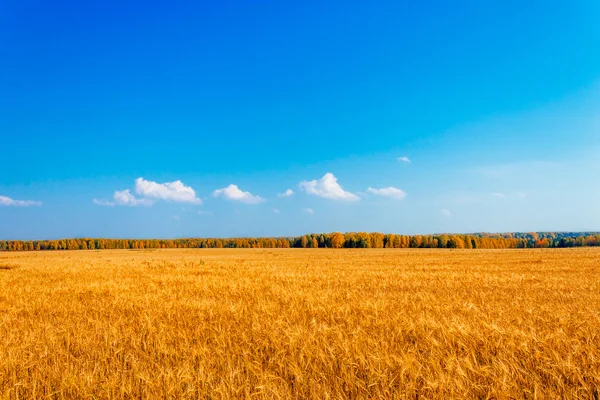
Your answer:
[[[0,398],[598,398],[600,249],[0,253]]]

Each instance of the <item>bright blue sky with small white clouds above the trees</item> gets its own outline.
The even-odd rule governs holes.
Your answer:
[[[598,1],[170,3],[0,2],[0,239],[600,230]]]

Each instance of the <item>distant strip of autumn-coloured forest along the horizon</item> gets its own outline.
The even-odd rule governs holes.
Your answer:
[[[0,251],[187,248],[448,248],[520,249],[600,246],[600,232],[396,235],[318,233],[278,238],[61,239],[0,241]]]

